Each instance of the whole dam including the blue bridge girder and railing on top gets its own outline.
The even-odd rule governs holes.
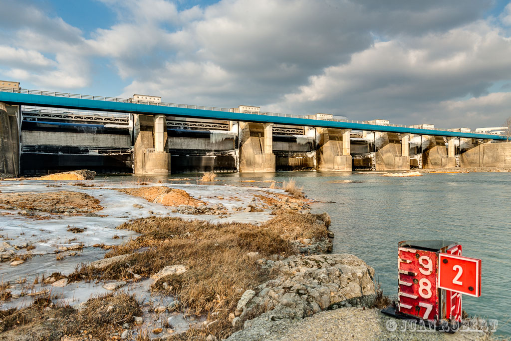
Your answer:
[[[467,128],[19,87],[0,88],[0,134],[5,175],[511,167],[506,137]]]

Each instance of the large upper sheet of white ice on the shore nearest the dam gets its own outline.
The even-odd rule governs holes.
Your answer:
[[[160,203],[149,202],[144,198],[131,196],[126,193],[113,190],[114,188],[133,187],[113,181],[83,181],[86,184],[95,184],[96,187],[78,187],[71,185],[76,181],[7,181],[3,183],[3,193],[20,192],[49,192],[49,191],[76,191],[84,192],[100,200],[103,210],[96,212],[106,217],[90,216],[63,216],[52,215],[52,219],[35,220],[30,216],[12,214],[16,210],[0,210],[0,213],[11,213],[10,215],[0,216],[0,235],[11,245],[20,245],[30,243],[36,246],[31,250],[31,254],[55,253],[59,247],[70,247],[81,243],[84,247],[94,244],[104,243],[105,245],[115,245],[124,242],[126,239],[136,235],[128,230],[116,230],[115,227],[129,219],[148,217],[151,215],[182,217],[186,219],[202,219],[208,221],[243,221],[259,223],[269,218],[269,211],[264,212],[241,212],[235,209],[246,208],[249,204],[261,203],[260,199],[252,201],[254,194],[259,192],[266,195],[267,191],[282,192],[280,190],[262,191],[257,188],[231,187],[231,186],[212,186],[212,185],[167,185],[171,188],[178,188],[187,191],[193,197],[201,197],[201,200],[207,203],[207,206],[222,204],[229,213],[227,217],[217,215],[190,215],[172,212],[173,207],[166,207]],[[61,185],[59,188],[47,188],[47,185]],[[101,185],[102,187],[98,187]],[[166,186],[164,184],[151,184],[148,186]],[[223,198],[219,198],[223,197]],[[133,207],[137,204],[140,207]],[[85,228],[82,233],[68,232],[69,228]],[[0,238],[1,240],[2,238]],[[0,247],[2,244],[0,243]],[[25,249],[19,249],[17,254],[26,253]],[[0,275],[2,267],[0,264]]]

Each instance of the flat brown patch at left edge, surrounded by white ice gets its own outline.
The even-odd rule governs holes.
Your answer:
[[[91,213],[103,209],[95,197],[73,191],[0,193],[0,208],[52,214]]]

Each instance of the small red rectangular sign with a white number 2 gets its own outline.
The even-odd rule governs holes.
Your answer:
[[[481,260],[439,254],[438,287],[479,297],[481,295]]]

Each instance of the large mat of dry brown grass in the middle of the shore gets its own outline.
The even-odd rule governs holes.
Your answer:
[[[167,265],[182,264],[187,267],[186,272],[159,279],[152,290],[174,295],[185,309],[190,309],[189,313],[216,312],[214,319],[218,322],[207,329],[206,336],[212,333],[219,339],[225,338],[233,332],[228,315],[235,310],[241,294],[271,278],[269,271],[248,258],[247,253],[259,252],[258,258],[276,260],[278,256],[297,253],[291,240],[328,234],[328,215],[292,210],[273,213],[277,216],[261,225],[212,224],[171,217],[136,219],[118,228],[142,236],[112,248],[105,256],[133,253],[128,260],[101,272],[83,267],[70,277],[128,279],[132,273],[148,277]],[[205,333],[204,328],[201,330],[185,335],[195,337],[198,335],[194,333]]]

